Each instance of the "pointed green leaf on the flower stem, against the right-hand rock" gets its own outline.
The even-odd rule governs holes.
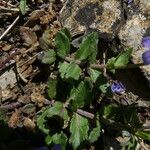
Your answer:
[[[119,68],[119,67],[127,65],[130,61],[132,51],[133,49],[129,48],[126,51],[119,54],[115,60],[114,67]]]

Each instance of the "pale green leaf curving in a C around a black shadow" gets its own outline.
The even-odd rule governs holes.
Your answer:
[[[44,132],[45,134],[49,134],[50,129],[47,128],[46,122],[47,119],[59,116],[64,120],[64,124],[68,122],[68,113],[67,110],[64,108],[63,103],[55,102],[54,105],[48,107],[38,118],[37,118],[37,126],[38,128]]]

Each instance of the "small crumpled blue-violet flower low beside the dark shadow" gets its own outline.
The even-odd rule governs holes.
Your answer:
[[[113,93],[122,94],[125,92],[125,87],[120,81],[116,81],[111,85],[111,91]]]

